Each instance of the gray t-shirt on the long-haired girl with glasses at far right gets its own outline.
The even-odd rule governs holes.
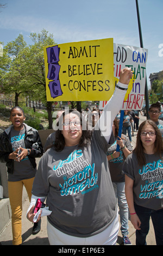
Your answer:
[[[163,157],[163,153],[161,154]],[[134,203],[149,209],[163,208],[163,160],[159,155],[145,154],[146,163],[140,167],[135,153],[128,155],[123,172],[134,180]]]

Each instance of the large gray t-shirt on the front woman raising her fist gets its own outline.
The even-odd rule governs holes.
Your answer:
[[[61,152],[51,148],[42,156],[32,193],[47,197],[52,211],[48,221],[55,228],[88,237],[114,220],[117,204],[106,158],[108,147],[100,131],[93,131],[91,144],[85,148],[76,145]]]

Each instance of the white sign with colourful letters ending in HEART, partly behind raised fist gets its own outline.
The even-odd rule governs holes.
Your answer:
[[[121,69],[128,67],[134,71],[123,101],[123,110],[142,109],[145,95],[147,54],[148,51],[145,48],[114,44],[115,83],[118,82]],[[100,101],[99,108],[103,109],[106,103],[105,100]]]

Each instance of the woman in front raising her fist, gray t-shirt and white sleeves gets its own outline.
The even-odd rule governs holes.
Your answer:
[[[117,204],[106,152],[114,141],[112,122],[132,75],[131,69],[121,71],[115,93],[93,131],[77,111],[65,111],[59,119],[54,145],[40,160],[27,211],[33,222],[36,199],[46,199],[52,211],[47,221],[51,245],[116,244]],[[110,111],[108,127],[104,120]]]

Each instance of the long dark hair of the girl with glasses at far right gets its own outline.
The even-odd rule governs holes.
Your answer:
[[[158,128],[158,126],[154,123],[154,121],[152,120],[146,120],[143,121],[143,123],[140,124],[138,132],[137,132],[137,139],[136,139],[136,147],[133,150],[133,152],[136,154],[137,156],[137,161],[139,163],[140,166],[143,166],[144,164],[146,164],[146,159],[145,159],[145,154],[144,154],[144,147],[140,138],[140,133],[142,130],[142,127],[144,125],[152,125],[155,132],[156,132],[156,139],[154,142],[154,153],[155,154],[159,154],[161,157],[161,152],[163,152],[163,142],[162,142],[162,135],[161,132]]]

